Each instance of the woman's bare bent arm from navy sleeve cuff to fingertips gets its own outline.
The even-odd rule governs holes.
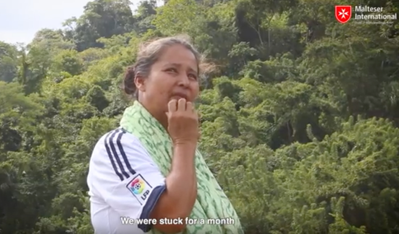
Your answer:
[[[190,217],[197,199],[196,148],[199,137],[198,115],[185,99],[168,103],[168,131],[173,140],[173,155],[166,190],[162,193],[151,219],[186,219]],[[157,223],[162,233],[183,233],[186,224]]]

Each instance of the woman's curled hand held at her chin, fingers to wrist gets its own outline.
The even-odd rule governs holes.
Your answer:
[[[192,102],[186,99],[171,100],[168,103],[168,132],[175,145],[194,144],[200,137],[199,119]]]

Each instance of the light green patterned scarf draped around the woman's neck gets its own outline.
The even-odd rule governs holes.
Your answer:
[[[127,108],[120,125],[134,134],[150,153],[164,176],[169,174],[172,162],[172,140],[161,125],[138,101]],[[210,172],[200,151],[196,150],[198,192],[190,219],[196,225],[187,225],[183,234],[243,234],[238,216],[230,201]],[[220,220],[230,223],[220,224]],[[216,221],[216,224],[208,223]],[[231,222],[233,220],[233,222]],[[152,229],[152,234],[161,234]]]

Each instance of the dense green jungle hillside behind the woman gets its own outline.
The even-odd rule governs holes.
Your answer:
[[[200,149],[246,234],[399,234],[397,0],[94,0],[27,45],[0,42],[0,233],[92,234],[86,175],[131,100],[138,45],[188,34]],[[0,36],[1,38],[1,36]]]

